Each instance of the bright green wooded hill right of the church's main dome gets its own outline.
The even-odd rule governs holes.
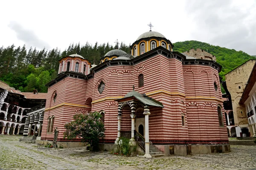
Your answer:
[[[243,64],[249,59],[256,59],[243,51],[236,51],[234,49],[223,48],[220,46],[210,45],[200,41],[184,41],[175,42],[173,51],[185,52],[192,48],[201,48],[208,51],[210,54],[216,56],[217,62],[222,65],[220,76],[225,78],[224,75],[239,65]]]

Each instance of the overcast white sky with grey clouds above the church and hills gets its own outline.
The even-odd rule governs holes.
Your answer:
[[[151,22],[173,43],[198,40],[256,55],[255,0],[4,0],[0,16],[5,47],[132,44]]]

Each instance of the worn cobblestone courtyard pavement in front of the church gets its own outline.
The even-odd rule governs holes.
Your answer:
[[[0,135],[0,170],[256,170],[256,147],[231,145],[231,153],[143,159],[89,152],[85,147],[39,150]]]

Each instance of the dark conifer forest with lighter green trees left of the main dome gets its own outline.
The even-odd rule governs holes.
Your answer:
[[[70,54],[80,54],[92,64],[93,62],[99,64],[100,58],[114,48],[122,49],[127,53],[131,51],[128,45],[122,42],[119,44],[118,41],[114,47],[108,43],[99,45],[97,42],[95,45],[88,42],[85,45],[70,44],[64,51],[58,48],[51,50],[26,48],[26,45],[0,48],[0,80],[21,92],[32,92],[33,89],[47,92],[45,84],[58,74],[58,60]]]

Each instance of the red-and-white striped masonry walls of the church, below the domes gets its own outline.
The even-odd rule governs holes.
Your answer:
[[[134,85],[135,91],[164,106],[149,106],[150,142],[227,144],[226,125],[220,125],[217,111],[217,107],[221,107],[221,121],[225,122],[218,71],[220,66],[215,62],[186,59],[183,54],[160,46],[131,61],[105,61],[84,76],[60,71],[58,77],[48,84],[41,140],[53,140],[54,134],[47,131],[47,123],[52,116],[55,118],[53,129],[58,128],[59,131],[57,141],[68,141],[63,139],[64,124],[70,122],[75,113],[101,111],[105,114],[104,142],[114,143],[118,130],[116,100],[132,91]],[[143,74],[144,85],[139,88],[140,74]],[[101,82],[105,83],[102,93],[98,90]],[[136,110],[139,111],[140,107],[143,108],[138,105]],[[124,107],[121,130],[131,130],[130,115],[131,108]],[[139,119],[141,116],[138,115],[135,122]]]

